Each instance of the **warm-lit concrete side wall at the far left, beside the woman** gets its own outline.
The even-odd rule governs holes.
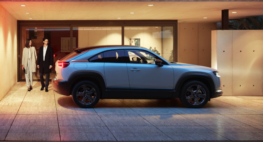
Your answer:
[[[0,58],[1,100],[17,82],[17,20],[1,5]]]

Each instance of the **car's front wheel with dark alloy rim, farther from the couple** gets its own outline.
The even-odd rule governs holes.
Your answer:
[[[180,91],[180,101],[189,108],[200,108],[209,100],[209,90],[200,81],[189,81],[183,85]]]

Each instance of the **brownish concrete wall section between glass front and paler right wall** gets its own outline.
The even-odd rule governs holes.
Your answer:
[[[211,67],[211,31],[216,23],[178,23],[178,62]]]

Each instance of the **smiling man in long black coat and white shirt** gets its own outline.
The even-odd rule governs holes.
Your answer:
[[[43,38],[44,46],[39,48],[38,52],[38,68],[39,68],[39,76],[41,82],[41,89],[45,92],[48,92],[48,85],[49,85],[49,73],[51,72],[51,68],[53,65],[53,48],[48,45],[48,39]],[[44,73],[46,74],[46,83],[44,83]]]

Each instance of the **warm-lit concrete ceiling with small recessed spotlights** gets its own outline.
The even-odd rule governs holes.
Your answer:
[[[150,4],[154,6],[148,6]],[[229,9],[229,19],[263,15],[263,1],[35,0],[0,1],[0,5],[17,20],[178,20],[178,23],[209,23],[220,22],[223,9]]]

